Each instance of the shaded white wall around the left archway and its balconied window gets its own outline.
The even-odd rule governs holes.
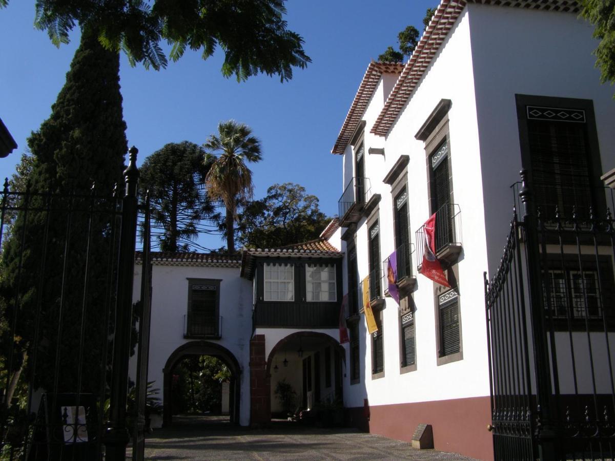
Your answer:
[[[241,376],[239,424],[250,422],[250,337],[252,334],[252,283],[239,277],[239,267],[164,266],[154,263],[148,380],[163,392],[166,361],[184,339],[184,316],[188,313],[188,278],[220,282],[221,338],[207,339],[229,350],[239,362]],[[134,299],[140,297],[141,266],[135,266]]]

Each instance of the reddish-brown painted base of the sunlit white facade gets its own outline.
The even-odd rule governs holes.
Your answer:
[[[488,396],[432,402],[347,408],[346,422],[373,434],[412,440],[416,427],[431,424],[434,448],[476,459],[493,460],[493,439]]]

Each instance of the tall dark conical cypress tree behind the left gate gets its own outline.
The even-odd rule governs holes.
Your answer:
[[[3,315],[15,328],[0,349],[8,398],[23,370],[22,384],[47,392],[101,390],[114,218],[98,213],[113,206],[98,197],[121,180],[125,129],[119,55],[85,29],[49,119],[28,140],[27,183],[40,195],[22,199],[30,211],[17,214],[2,254]]]

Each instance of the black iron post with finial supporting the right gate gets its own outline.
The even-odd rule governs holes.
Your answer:
[[[519,198],[523,203],[523,230],[528,265],[528,287],[530,297],[530,325],[534,372],[536,376],[537,417],[536,433],[539,459],[557,459],[555,442],[557,431],[554,424],[552,405],[551,368],[547,329],[544,322],[544,302],[542,300],[542,277],[538,239],[538,223],[534,210],[533,193],[528,186],[528,171],[520,171],[522,188]]]

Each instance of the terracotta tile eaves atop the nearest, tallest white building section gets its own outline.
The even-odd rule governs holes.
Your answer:
[[[386,103],[384,103],[384,108],[371,127],[371,133],[378,136],[386,136],[389,133],[403,106],[410,99],[416,85],[431,64],[435,53],[440,49],[442,42],[468,3],[568,13],[579,12],[579,4],[574,0],[442,0],[429,26],[416,45],[415,52],[406,63],[402,74],[397,79],[397,83],[389,94]],[[343,146],[342,149],[345,147]]]

